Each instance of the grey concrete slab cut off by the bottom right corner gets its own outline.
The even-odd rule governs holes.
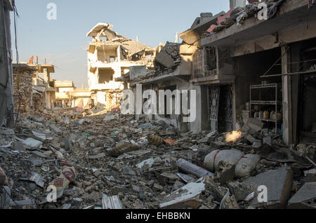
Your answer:
[[[289,200],[288,209],[316,209],[316,182],[308,182]]]

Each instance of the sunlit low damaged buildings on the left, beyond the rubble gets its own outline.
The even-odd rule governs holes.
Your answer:
[[[75,107],[89,109],[91,92],[77,89],[73,81],[57,81],[51,79],[55,72],[54,65],[40,65],[38,57],[33,63],[13,64],[13,88],[15,95],[15,111],[29,114],[29,111],[43,109],[73,109]]]

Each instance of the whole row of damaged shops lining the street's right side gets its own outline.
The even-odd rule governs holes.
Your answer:
[[[286,144],[314,142],[315,10],[308,0],[230,1],[230,11],[202,13],[156,56],[155,71],[133,71],[131,87],[194,89],[197,119],[169,119],[181,132],[238,130],[260,121]],[[174,100],[174,99],[173,99]],[[166,121],[166,120],[165,120]]]

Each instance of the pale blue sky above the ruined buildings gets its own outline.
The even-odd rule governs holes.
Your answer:
[[[229,0],[15,0],[20,62],[32,55],[55,65],[53,79],[72,80],[87,86],[86,33],[98,22],[149,46],[174,41],[176,32],[189,29],[200,13],[228,11]],[[49,3],[57,5],[57,20],[48,20]],[[12,16],[11,16],[12,18]],[[11,20],[13,30],[13,20]],[[15,35],[12,32],[14,48]],[[14,54],[15,55],[15,54]]]

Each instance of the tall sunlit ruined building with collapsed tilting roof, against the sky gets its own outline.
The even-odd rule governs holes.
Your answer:
[[[156,48],[128,39],[112,29],[113,25],[98,23],[87,34],[92,37],[88,47],[88,88],[93,92],[93,101],[107,109],[119,106],[121,91],[129,87],[115,79],[136,65],[153,69],[156,55]]]

